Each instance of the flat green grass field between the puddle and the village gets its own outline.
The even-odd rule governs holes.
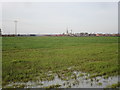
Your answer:
[[[63,80],[73,71],[118,75],[118,37],[3,37],[2,81]],[[71,69],[68,69],[71,68]],[[48,72],[52,75],[48,76]]]

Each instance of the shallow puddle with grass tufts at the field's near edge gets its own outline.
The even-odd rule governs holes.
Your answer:
[[[108,85],[112,85],[118,82],[118,76],[108,77],[104,79],[103,76],[98,76],[95,78],[88,78],[90,74],[74,71],[73,75],[76,75],[77,78],[70,79],[68,81],[61,80],[57,75],[54,80],[51,81],[37,81],[37,82],[16,82],[10,83],[5,86],[7,87],[17,87],[24,85],[25,88],[43,88],[51,85],[61,85],[59,88],[105,88]]]

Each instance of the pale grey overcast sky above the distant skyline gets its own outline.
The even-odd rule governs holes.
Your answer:
[[[2,3],[2,32],[14,34],[117,33],[117,2]]]

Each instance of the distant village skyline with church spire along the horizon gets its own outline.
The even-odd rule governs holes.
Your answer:
[[[15,37],[15,36],[71,36],[71,37],[90,37],[90,36],[120,36],[120,33],[117,34],[103,34],[103,33],[72,33],[72,30],[66,30],[66,33],[62,34],[2,34],[0,29],[0,36],[2,37]]]

